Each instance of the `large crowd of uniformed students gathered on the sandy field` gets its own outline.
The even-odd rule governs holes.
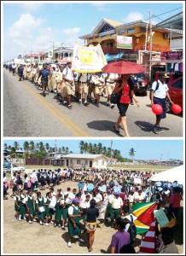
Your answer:
[[[15,172],[9,182],[4,173],[4,199],[8,198],[8,188],[12,189],[15,218],[19,221],[24,219],[28,224],[38,222],[46,226],[52,224],[55,228],[67,230],[68,247],[72,247],[73,236],[84,242],[83,234],[86,232],[87,247],[91,252],[98,221],[115,228],[118,231],[112,236],[109,253],[134,253],[135,237],[131,236],[130,227],[137,216],[132,212],[132,206],[137,202],[154,201],[157,209],[162,207],[170,220],[170,225],[166,225],[166,235],[162,236],[165,240],[161,241],[166,247],[162,249],[160,246],[160,253],[166,253],[168,249],[165,248],[171,246],[175,251],[177,247],[172,240],[172,228],[176,222],[172,225],[172,219],[177,219],[183,186],[177,181],[148,183],[148,174],[110,169],[40,169],[24,177]],[[61,189],[67,181],[78,184],[78,189]],[[40,190],[46,189],[49,190],[44,196]],[[157,234],[159,232],[160,235],[161,231],[165,232],[165,229],[157,230]]]

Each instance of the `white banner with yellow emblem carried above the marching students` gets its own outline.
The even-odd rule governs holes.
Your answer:
[[[75,43],[73,47],[73,70],[78,73],[102,72],[107,65],[105,55],[100,44],[83,46]]]

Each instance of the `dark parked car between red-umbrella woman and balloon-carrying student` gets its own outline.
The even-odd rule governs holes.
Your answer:
[[[134,82],[134,92],[137,94],[143,94],[147,96],[148,79],[145,77],[145,73],[136,73],[132,77]]]

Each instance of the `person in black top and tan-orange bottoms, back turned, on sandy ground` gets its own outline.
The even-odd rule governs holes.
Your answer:
[[[96,231],[96,218],[99,216],[99,211],[95,207],[96,201],[94,199],[90,200],[90,208],[86,210],[86,222],[85,229],[87,232],[87,247],[89,252],[92,251],[92,245],[94,242],[95,231]]]

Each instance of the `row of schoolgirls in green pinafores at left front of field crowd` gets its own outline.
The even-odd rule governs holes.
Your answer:
[[[41,192],[32,190],[20,189],[15,191],[15,218],[19,221],[27,217],[28,223],[32,221],[39,222],[41,225],[49,226],[54,224],[54,227],[61,227],[66,230],[67,227],[67,209],[71,206],[73,198],[77,194],[77,189],[67,188],[67,192],[61,193],[61,189],[57,189],[57,194],[54,188],[49,188],[49,192],[44,197]],[[54,216],[54,222],[52,220]],[[36,219],[37,218],[37,219]]]

